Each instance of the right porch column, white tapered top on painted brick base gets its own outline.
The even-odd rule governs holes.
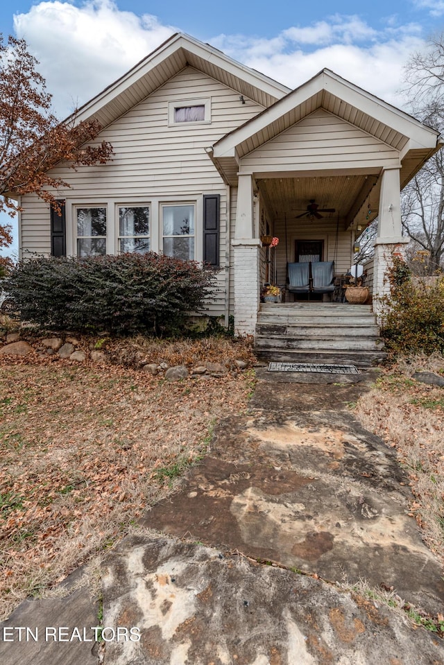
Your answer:
[[[379,322],[382,308],[378,297],[389,292],[386,273],[391,266],[393,252],[402,252],[408,242],[402,236],[400,169],[385,169],[381,176],[373,276],[373,295],[376,296],[373,309]]]

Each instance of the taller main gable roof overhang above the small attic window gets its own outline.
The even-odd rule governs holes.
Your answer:
[[[80,107],[76,120],[94,118],[106,127],[187,66],[203,71],[264,107],[290,92],[287,86],[232,60],[210,44],[176,33]]]

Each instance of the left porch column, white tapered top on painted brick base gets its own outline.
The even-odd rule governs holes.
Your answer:
[[[255,333],[259,310],[259,249],[254,237],[253,176],[239,175],[236,229],[234,231],[234,329],[240,335]]]

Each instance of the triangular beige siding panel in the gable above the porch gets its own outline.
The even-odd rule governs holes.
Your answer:
[[[398,150],[323,109],[242,157],[241,172],[400,166]]]

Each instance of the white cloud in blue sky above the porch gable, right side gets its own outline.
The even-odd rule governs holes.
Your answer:
[[[404,64],[412,51],[425,48],[417,24],[396,27],[390,17],[376,32],[358,17],[339,15],[307,28],[288,28],[272,53],[266,40],[259,44],[220,35],[211,43],[288,87],[298,87],[327,67],[395,106],[405,103],[398,92]]]

